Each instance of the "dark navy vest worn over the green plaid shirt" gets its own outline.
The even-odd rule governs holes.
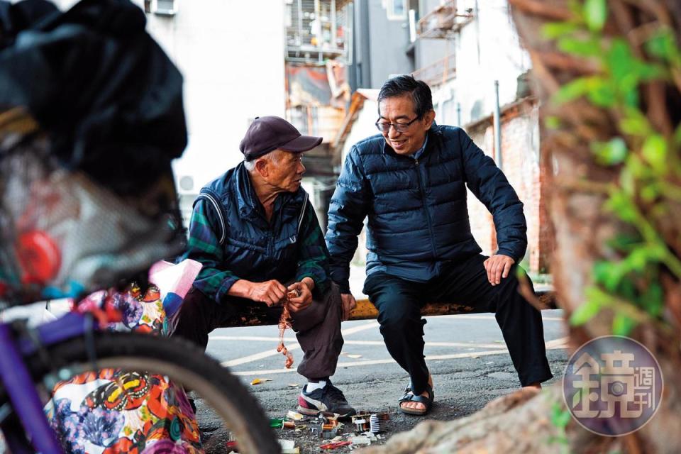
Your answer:
[[[221,226],[213,226],[223,248],[218,267],[255,282],[286,282],[295,277],[297,268],[292,264],[298,260],[298,226],[308,198],[302,187],[295,194],[277,196],[270,222],[243,162],[207,184],[200,194],[199,199],[207,194],[218,202],[217,221],[220,216],[225,220],[223,234]]]

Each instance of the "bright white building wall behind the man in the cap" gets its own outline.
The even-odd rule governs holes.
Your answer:
[[[189,145],[174,167],[198,192],[243,159],[255,116],[284,116],[284,1],[177,1],[147,28],[184,74]]]

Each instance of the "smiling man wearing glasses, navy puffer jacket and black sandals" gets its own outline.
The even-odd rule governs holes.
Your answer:
[[[380,135],[350,150],[328,213],[331,277],[341,287],[344,319],[355,306],[349,263],[368,216],[364,292],[379,311],[390,355],[411,378],[399,409],[423,415],[433,403],[420,314],[428,301],[496,313],[521,385],[540,388],[553,375],[541,314],[517,289],[516,263],[527,247],[523,204],[463,130],[436,125],[427,84],[394,77],[378,101]],[[470,231],[465,186],[494,216],[499,248],[489,258]]]

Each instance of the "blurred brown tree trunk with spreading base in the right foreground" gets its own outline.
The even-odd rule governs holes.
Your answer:
[[[617,233],[630,233],[632,226],[619,220],[616,213],[604,209],[609,197],[609,184],[620,181],[622,166],[599,165],[592,152],[594,141],[625,137],[632,153],[641,144],[621,130],[621,117],[613,108],[598,107],[580,97],[555,106],[552,96],[577,77],[604,71],[598,58],[575,57],[558,50],[555,42],[543,36],[548,22],[570,21],[574,13],[570,2],[510,0],[511,13],[521,40],[531,55],[533,74],[541,99],[543,121],[549,116],[555,129],[542,129],[542,159],[553,162],[553,181],[549,211],[555,233],[555,251],[551,260],[558,305],[566,319],[588,299],[594,286],[594,264],[614,260],[608,246]],[[592,3],[598,3],[597,1]],[[580,5],[578,3],[578,5]],[[580,5],[581,6],[581,5]],[[633,54],[641,60],[649,55],[644,40],[666,25],[679,43],[681,3],[677,0],[611,0],[607,2],[607,22],[602,38],[624,38]],[[677,45],[678,49],[678,45]],[[677,65],[681,63],[677,62]],[[681,187],[679,148],[681,140],[673,139],[674,128],[681,120],[681,71],[671,65],[666,82],[652,81],[638,85],[641,110],[655,131],[668,143],[668,165],[672,167],[665,180],[668,188]],[[677,136],[680,136],[677,130]],[[663,199],[665,216],[647,216],[650,201],[636,197],[639,209],[652,228],[663,238],[675,258],[681,255],[681,206],[678,196]],[[394,436],[381,447],[365,453],[555,453],[571,452],[675,453],[681,449],[681,285],[678,276],[666,266],[653,277],[663,288],[664,310],[659,316],[643,314],[641,308],[621,304],[602,310],[582,326],[567,324],[570,348],[574,350],[589,339],[612,333],[613,318],[618,311],[631,315],[640,323],[629,337],[646,345],[657,358],[664,377],[664,394],[658,413],[640,430],[616,438],[597,436],[570,420],[566,431],[551,422],[555,405],[564,407],[560,384],[543,389],[537,395],[516,392],[494,402],[464,419],[448,422],[424,421],[412,431]],[[651,282],[636,282],[646,287]],[[563,443],[560,443],[560,438]]]

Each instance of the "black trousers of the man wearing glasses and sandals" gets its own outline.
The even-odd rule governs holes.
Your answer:
[[[381,334],[388,352],[411,377],[414,394],[428,383],[423,357],[423,325],[420,309],[429,301],[456,302],[473,306],[478,312],[494,312],[509,348],[511,360],[523,386],[545,382],[551,374],[544,345],[541,313],[518,292],[516,267],[496,286],[489,284],[482,262],[476,255],[464,262],[447,265],[440,276],[428,282],[413,282],[375,272],[367,277],[364,292],[376,309]]]

